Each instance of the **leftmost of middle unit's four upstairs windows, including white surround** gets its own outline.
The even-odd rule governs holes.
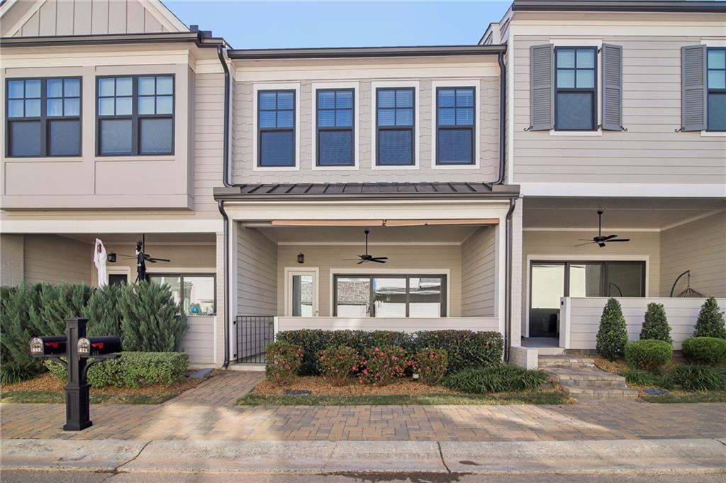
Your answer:
[[[253,84],[254,171],[300,169],[300,83]]]

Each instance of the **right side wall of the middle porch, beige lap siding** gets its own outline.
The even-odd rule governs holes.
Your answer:
[[[462,244],[462,317],[492,317],[496,312],[496,234],[497,227],[483,227]]]

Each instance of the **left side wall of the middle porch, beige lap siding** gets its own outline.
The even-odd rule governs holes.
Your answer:
[[[237,314],[275,315],[277,245],[254,228],[237,230]]]

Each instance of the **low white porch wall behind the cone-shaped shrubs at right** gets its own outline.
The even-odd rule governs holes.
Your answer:
[[[645,309],[655,302],[663,304],[666,317],[671,326],[673,348],[681,349],[684,339],[693,336],[693,327],[698,319],[698,312],[706,299],[671,299],[671,298],[617,298],[623,308],[623,315],[628,325],[628,340],[637,341],[645,319]],[[597,329],[600,328],[600,317],[603,307],[608,301],[605,297],[560,299],[560,347],[565,349],[595,349]],[[719,307],[726,308],[726,299],[717,299]]]

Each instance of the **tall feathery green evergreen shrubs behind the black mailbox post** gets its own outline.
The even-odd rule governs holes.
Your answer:
[[[92,289],[82,284],[22,284],[0,288],[0,381],[30,378],[43,366],[28,353],[34,336],[65,333],[65,319],[86,317],[89,336],[121,336],[126,351],[179,349],[187,330],[167,285]]]

